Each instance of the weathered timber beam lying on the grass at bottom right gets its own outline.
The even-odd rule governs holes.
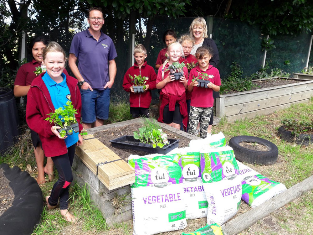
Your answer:
[[[313,175],[303,180],[302,182],[293,185],[269,201],[265,201],[261,205],[222,225],[223,232],[225,235],[238,234],[239,232],[256,223],[258,220],[265,218],[270,213],[275,212],[279,208],[285,206],[289,202],[295,200],[297,197],[312,189]]]

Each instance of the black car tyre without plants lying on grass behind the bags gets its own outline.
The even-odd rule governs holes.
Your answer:
[[[262,144],[268,148],[268,151],[247,149],[239,145],[241,142]],[[233,148],[236,159],[241,162],[273,165],[278,158],[278,148],[275,144],[255,136],[235,136],[229,140],[229,146]]]

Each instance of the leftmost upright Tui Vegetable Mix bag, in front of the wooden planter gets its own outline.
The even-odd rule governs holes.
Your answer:
[[[182,170],[179,156],[131,155],[128,164],[135,168],[131,185],[134,235],[150,235],[186,227]]]

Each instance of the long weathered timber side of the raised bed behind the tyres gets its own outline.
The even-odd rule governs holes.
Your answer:
[[[283,79],[287,79],[282,77]],[[268,115],[291,104],[309,102],[313,97],[313,81],[288,78],[302,82],[220,95],[216,98],[216,117],[236,121],[255,116]],[[253,81],[261,81],[258,79]]]

